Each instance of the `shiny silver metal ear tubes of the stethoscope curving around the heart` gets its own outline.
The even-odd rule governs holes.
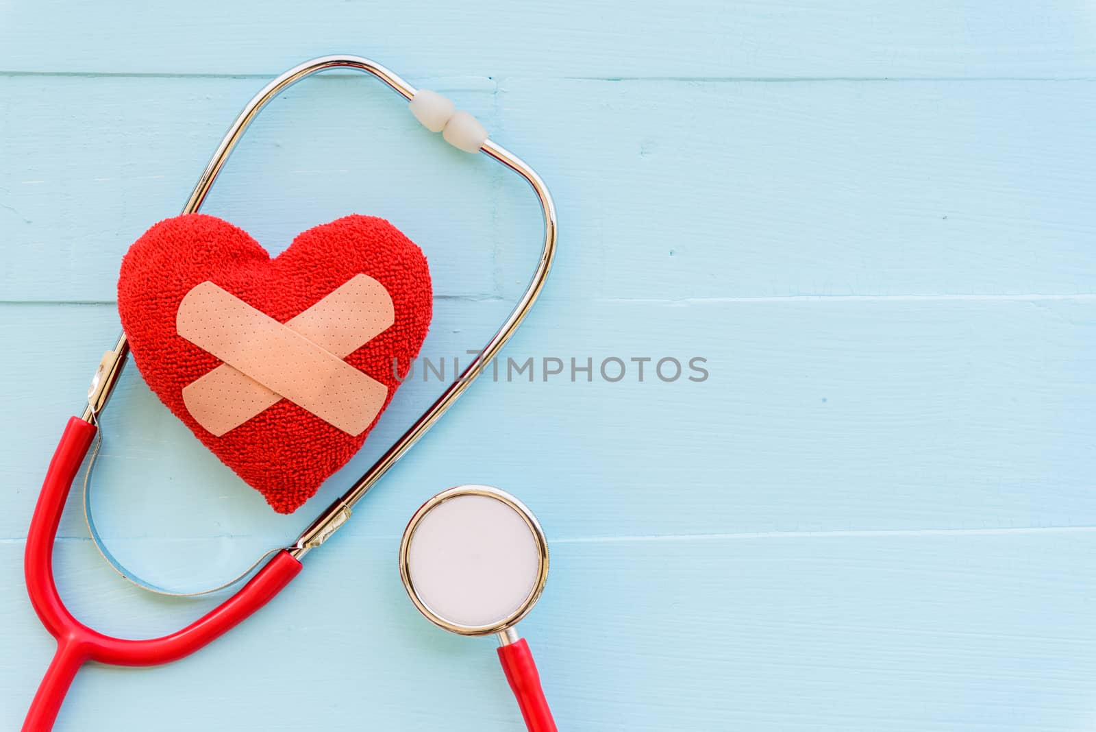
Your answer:
[[[266,84],[266,87],[255,94],[255,96],[253,96],[240,112],[239,116],[221,139],[220,145],[214,152],[213,158],[210,158],[206,169],[203,171],[202,176],[194,186],[194,191],[186,201],[186,205],[183,206],[182,213],[193,214],[201,208],[202,203],[209,193],[209,188],[213,186],[214,181],[217,180],[217,175],[225,167],[225,163],[231,155],[232,149],[236,147],[236,144],[240,140],[240,137],[243,135],[244,130],[247,130],[248,126],[255,118],[259,112],[266,106],[267,103],[298,81],[310,77],[313,73],[338,68],[357,69],[359,71],[370,73],[388,84],[388,87],[407,100],[414,96],[416,91],[414,87],[409,84],[391,70],[361,56],[323,56],[289,69]],[[326,541],[339,527],[341,527],[350,517],[352,506],[362,500],[362,496],[364,496],[366,492],[373,488],[377,480],[379,480],[380,477],[397,462],[397,460],[403,457],[411,446],[414,445],[426,433],[426,431],[430,430],[435,422],[437,422],[442,414],[444,414],[446,410],[453,405],[460,394],[465,392],[471,382],[480,375],[483,367],[490,363],[502,346],[505,345],[506,341],[509,341],[514,334],[517,327],[528,314],[529,309],[533,307],[533,304],[536,301],[537,296],[544,287],[545,281],[548,277],[548,272],[551,268],[552,260],[556,255],[556,207],[552,203],[551,194],[548,192],[548,187],[545,185],[544,181],[540,180],[540,176],[537,175],[536,171],[501,145],[498,145],[493,140],[489,139],[483,144],[481,151],[525,179],[525,181],[533,186],[533,191],[537,195],[537,201],[540,203],[540,210],[544,215],[544,243],[540,252],[540,259],[537,262],[533,277],[529,281],[528,286],[525,288],[525,291],[522,294],[521,299],[506,318],[505,322],[503,322],[502,327],[494,333],[494,335],[491,336],[480,354],[472,359],[461,375],[453,384],[450,384],[444,392],[442,392],[441,397],[437,398],[430,409],[427,409],[414,422],[414,424],[412,424],[411,427],[404,432],[403,435],[396,441],[396,443],[392,444],[392,446],[380,457],[380,459],[378,459],[361,478],[358,478],[357,481],[355,481],[342,496],[336,499],[322,514],[320,514],[319,517],[312,522],[312,524],[309,525],[309,527],[297,538],[297,540],[288,547],[290,553],[298,559],[308,553],[308,551],[312,548],[323,544],[323,541]],[[128,354],[129,346],[126,341],[126,336],[123,333],[114,350],[109,352],[100,364],[101,370],[96,371],[95,381],[93,382],[92,390],[90,392],[92,397],[89,399],[88,407],[83,412],[83,420],[88,422],[94,421],[95,415],[105,408],[114,387],[117,385],[118,376],[125,365]]]

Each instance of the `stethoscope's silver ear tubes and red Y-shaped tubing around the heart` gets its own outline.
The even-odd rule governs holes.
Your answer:
[[[263,106],[297,81],[319,71],[335,68],[356,69],[370,73],[388,84],[409,102],[415,100],[418,95],[420,101],[418,104],[412,104],[412,111],[433,131],[441,130],[439,128],[435,129],[433,126],[433,122],[437,118],[436,113],[438,110],[444,112],[443,107],[449,104],[448,108],[452,114],[452,103],[448,103],[447,100],[429,90],[414,89],[387,68],[369,59],[359,56],[326,56],[306,61],[273,80],[243,107],[243,111],[236,118],[236,122],[232,123],[232,126],[218,146],[209,164],[202,173],[202,178],[198,180],[182,213],[192,214],[198,210],[214,180],[216,180],[220,169],[228,160],[232,148]],[[423,110],[425,110],[425,114],[423,114]],[[467,119],[467,115],[465,118]],[[465,129],[467,130],[467,127]],[[53,548],[57,536],[57,527],[65,508],[65,502],[71,490],[72,481],[79,472],[80,466],[99,432],[98,416],[105,408],[128,356],[129,350],[125,334],[119,338],[114,348],[103,356],[92,380],[88,393],[88,407],[83,415],[79,418],[73,416],[69,420],[61,435],[60,444],[54,453],[27,531],[26,554],[24,559],[26,587],[31,596],[31,603],[43,626],[57,639],[57,652],[46,671],[45,678],[38,687],[37,694],[35,694],[34,701],[31,704],[31,709],[23,723],[24,732],[45,732],[53,729],[65,695],[83,663],[96,661],[119,666],[152,666],[170,663],[194,653],[270,602],[274,595],[281,592],[300,572],[300,559],[311,549],[323,544],[350,518],[354,504],[373,488],[377,480],[464,393],[465,389],[479,376],[483,367],[513,335],[539,295],[548,271],[551,267],[557,238],[556,213],[551,196],[544,182],[532,168],[505,148],[487,139],[486,136],[475,140],[479,147],[468,145],[468,135],[456,134],[450,139],[450,135],[447,134],[446,140],[470,152],[480,151],[487,153],[489,157],[513,170],[533,186],[540,203],[541,213],[544,214],[545,236],[540,258],[528,286],[513,311],[464,373],[445,389],[430,409],[415,421],[365,474],[355,481],[343,495],[336,499],[312,522],[292,546],[270,552],[272,554],[271,559],[243,586],[218,607],[182,630],[162,638],[126,640],[112,638],[92,630],[68,611],[61,602],[54,581]],[[84,490],[87,491],[87,483]],[[95,536],[94,531],[92,531],[92,535],[98,546],[98,536]],[[113,561],[109,552],[104,552],[104,556],[107,557],[111,564],[124,577],[134,581],[140,586],[148,587],[148,585],[136,581],[124,568]],[[262,563],[262,561],[256,562],[256,565]],[[545,553],[544,570],[547,572],[547,553]],[[539,595],[539,591],[536,594]],[[532,599],[535,602],[536,597]],[[525,608],[525,611],[527,611],[527,608]],[[516,622],[516,619],[513,621]],[[518,665],[521,665],[520,662],[521,659],[518,659]],[[515,673],[520,673],[520,671]],[[509,673],[507,671],[507,675]],[[533,673],[535,674],[535,670]],[[553,730],[555,727],[530,729]]]

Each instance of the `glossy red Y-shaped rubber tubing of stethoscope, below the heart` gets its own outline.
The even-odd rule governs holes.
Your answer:
[[[26,536],[26,590],[42,625],[57,639],[57,654],[34,696],[23,732],[53,729],[72,678],[84,662],[155,666],[182,659],[239,625],[300,572],[300,562],[283,550],[235,595],[182,630],[162,638],[125,640],[88,628],[72,617],[57,594],[53,553],[65,500],[94,436],[93,425],[76,416],[69,420],[46,471]]]

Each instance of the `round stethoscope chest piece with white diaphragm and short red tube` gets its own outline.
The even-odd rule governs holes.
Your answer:
[[[414,606],[460,636],[499,638],[499,661],[530,732],[556,732],[533,653],[516,625],[544,592],[548,540],[525,504],[490,485],[458,485],[424,503],[400,541]]]

